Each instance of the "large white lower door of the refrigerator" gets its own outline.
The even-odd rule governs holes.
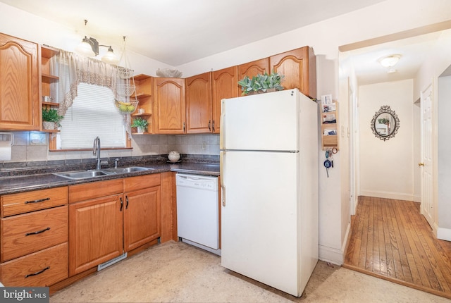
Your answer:
[[[291,295],[302,295],[299,154],[221,153],[226,197],[221,207],[222,266]]]

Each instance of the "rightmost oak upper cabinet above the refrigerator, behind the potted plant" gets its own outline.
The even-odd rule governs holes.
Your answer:
[[[316,97],[316,58],[311,47],[302,47],[271,56],[271,70],[285,75],[285,89],[298,88],[302,94]]]

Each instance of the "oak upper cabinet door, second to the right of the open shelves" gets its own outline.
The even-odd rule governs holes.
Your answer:
[[[187,133],[211,132],[211,73],[185,79]]]

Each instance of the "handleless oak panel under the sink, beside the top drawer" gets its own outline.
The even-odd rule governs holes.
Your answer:
[[[123,179],[97,181],[69,186],[69,203],[122,194]]]

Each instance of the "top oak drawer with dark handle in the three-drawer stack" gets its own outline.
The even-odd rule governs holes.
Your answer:
[[[25,214],[30,211],[39,211],[39,209],[49,209],[50,207],[67,204],[68,187],[6,194],[0,197],[0,201],[2,217]]]

